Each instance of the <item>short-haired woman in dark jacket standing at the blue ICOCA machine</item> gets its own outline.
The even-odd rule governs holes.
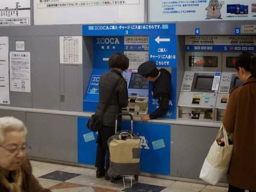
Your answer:
[[[102,130],[99,131],[97,137],[97,153],[96,163],[97,167],[96,177],[100,178],[105,176],[108,180],[107,171],[109,168],[109,152],[107,140],[115,134],[115,116],[122,112],[122,108],[128,105],[128,90],[127,82],[122,76],[122,72],[129,67],[129,59],[121,54],[113,54],[108,61],[109,71],[103,73],[99,83],[99,104],[96,109],[96,114],[101,114],[108,97],[111,97],[110,104],[103,115]],[[115,89],[113,92],[112,90]],[[118,124],[121,129],[121,121]],[[107,161],[105,164],[105,156]],[[105,168],[106,165],[106,168]]]

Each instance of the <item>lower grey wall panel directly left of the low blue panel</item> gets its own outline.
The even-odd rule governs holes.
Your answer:
[[[29,156],[77,163],[77,117],[26,113]]]

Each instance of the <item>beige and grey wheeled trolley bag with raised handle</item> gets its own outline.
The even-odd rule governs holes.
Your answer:
[[[131,130],[117,131],[117,119],[130,116]],[[123,177],[124,187],[132,187],[132,178],[138,180],[140,174],[140,137],[133,134],[133,116],[128,113],[116,115],[115,135],[108,139],[109,163],[108,176],[111,182],[115,177]],[[125,177],[130,177],[131,184],[126,186]]]

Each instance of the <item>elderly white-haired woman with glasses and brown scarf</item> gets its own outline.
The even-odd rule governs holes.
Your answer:
[[[27,128],[14,117],[0,118],[0,191],[1,192],[50,192],[43,189],[32,175],[26,157]]]

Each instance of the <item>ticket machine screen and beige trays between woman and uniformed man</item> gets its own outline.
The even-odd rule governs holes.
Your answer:
[[[129,104],[123,109],[133,115],[148,114],[148,81],[138,74],[137,69],[128,69],[123,72],[127,81]]]

